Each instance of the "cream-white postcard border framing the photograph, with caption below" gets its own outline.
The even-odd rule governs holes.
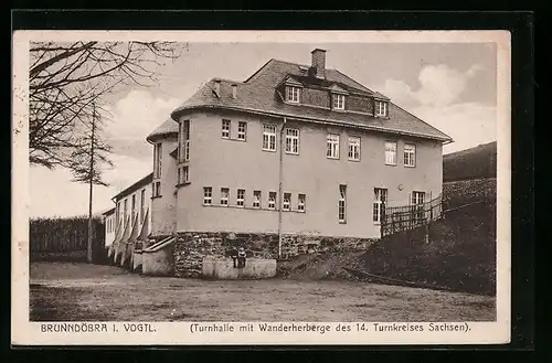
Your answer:
[[[468,322],[469,332],[190,333],[187,322],[151,322],[155,333],[43,333],[29,322],[29,125],[30,41],[164,40],[274,43],[496,43],[497,44],[497,321]],[[489,344],[510,341],[510,33],[507,31],[15,31],[13,34],[12,344]],[[235,328],[246,322],[235,322]],[[255,322],[256,323],[256,322]],[[291,323],[291,322],[287,322]],[[299,323],[299,322],[296,322]],[[209,322],[212,324],[212,322]],[[326,324],[318,322],[317,324]],[[337,323],[328,323],[336,327]],[[354,323],[351,323],[354,324]],[[370,323],[369,323],[370,324]],[[411,324],[414,324],[411,322]]]

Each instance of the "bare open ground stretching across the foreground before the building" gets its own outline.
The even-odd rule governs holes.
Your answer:
[[[495,298],[347,280],[209,281],[33,263],[31,321],[492,321]]]

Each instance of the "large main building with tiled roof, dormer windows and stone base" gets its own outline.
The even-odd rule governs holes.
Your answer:
[[[150,237],[174,236],[176,273],[194,276],[232,244],[277,257],[379,238],[384,205],[442,193],[452,139],[317,49],[310,65],[211,79],[148,141]]]

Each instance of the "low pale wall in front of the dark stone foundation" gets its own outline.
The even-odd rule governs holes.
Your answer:
[[[232,258],[203,258],[203,277],[213,279],[259,279],[276,276],[276,259],[248,258],[245,267],[235,268]]]

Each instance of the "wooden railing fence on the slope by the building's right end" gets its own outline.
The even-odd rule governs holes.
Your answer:
[[[425,203],[386,206],[381,217],[381,236],[385,237],[401,231],[414,229],[438,220],[443,213],[443,196]]]

